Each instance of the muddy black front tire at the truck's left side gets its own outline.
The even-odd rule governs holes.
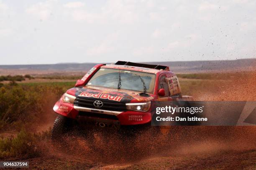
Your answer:
[[[72,120],[68,117],[58,115],[54,121],[54,126],[51,132],[51,140],[53,142],[59,142],[63,138],[63,135],[67,133],[68,128],[71,125]]]

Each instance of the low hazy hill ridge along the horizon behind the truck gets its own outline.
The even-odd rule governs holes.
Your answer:
[[[132,61],[131,61],[132,62]],[[256,59],[214,60],[214,61],[175,61],[144,62],[169,66],[174,72],[219,72],[256,70]],[[97,63],[58,63],[42,65],[0,65],[0,70],[36,70],[49,72],[85,72]]]

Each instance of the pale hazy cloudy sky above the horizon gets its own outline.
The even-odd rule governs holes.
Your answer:
[[[0,0],[0,65],[255,57],[255,0]]]

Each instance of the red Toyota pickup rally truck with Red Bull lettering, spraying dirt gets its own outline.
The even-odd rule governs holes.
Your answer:
[[[54,105],[59,115],[52,139],[80,120],[102,128],[150,124],[151,102],[176,100],[192,97],[181,95],[179,80],[167,66],[126,61],[97,64]]]

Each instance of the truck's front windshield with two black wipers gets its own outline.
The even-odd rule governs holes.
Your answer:
[[[120,89],[136,90],[140,92],[144,92],[146,87],[146,92],[153,93],[155,77],[155,74],[146,72],[100,68],[100,70],[92,76],[87,85],[116,89],[119,87]],[[143,81],[145,82],[144,85]],[[118,85],[119,82],[120,85]]]

